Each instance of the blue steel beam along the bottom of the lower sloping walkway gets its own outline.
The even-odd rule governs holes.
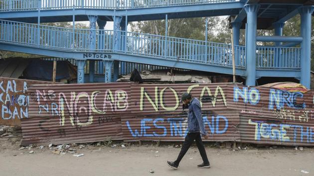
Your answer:
[[[0,43],[0,49],[12,52],[22,52],[29,54],[38,54],[38,55],[46,55],[51,57],[62,57],[66,59],[84,59],[82,56],[84,53],[72,53],[68,51],[62,50],[53,50],[48,48],[34,48],[31,46],[23,46],[23,45],[11,45]],[[205,64],[197,64],[197,63],[189,63],[189,62],[176,62],[170,60],[164,60],[162,58],[153,58],[153,57],[141,57],[136,55],[126,55],[126,54],[112,54],[112,58],[115,58],[120,61],[126,62],[134,62],[134,63],[142,63],[149,65],[157,65],[157,66],[165,66],[165,67],[175,67],[181,69],[190,69],[190,70],[198,70],[204,72],[213,72],[213,73],[222,73],[222,74],[232,74],[232,68],[221,67],[219,65],[205,65]],[[110,64],[110,63],[109,63]],[[105,63],[104,63],[105,65]],[[257,68],[256,77],[291,77],[291,78],[300,78],[300,68],[299,69],[259,69]],[[246,76],[245,70],[236,69],[236,75]]]

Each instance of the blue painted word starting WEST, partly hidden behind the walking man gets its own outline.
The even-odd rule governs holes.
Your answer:
[[[130,122],[127,121],[126,124],[128,129],[133,137],[164,137],[170,132],[170,136],[185,136],[188,132],[186,127],[183,127],[184,118],[168,118],[166,120],[169,125],[162,126],[157,123],[163,123],[163,118],[157,118],[155,120],[151,118],[144,118],[141,120],[141,129],[132,129]],[[223,122],[224,121],[224,122]],[[224,116],[212,116],[211,121],[208,120],[207,116],[203,117],[203,122],[205,125],[205,129],[209,128],[211,134],[223,134],[228,129],[228,119]],[[148,124],[151,123],[151,124]],[[153,129],[154,128],[154,129]],[[223,128],[223,129],[221,129]],[[148,132],[147,130],[152,129]],[[163,133],[158,133],[157,130],[163,130]],[[140,132],[139,132],[140,131]]]

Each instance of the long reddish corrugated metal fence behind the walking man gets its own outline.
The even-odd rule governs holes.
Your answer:
[[[182,141],[180,94],[201,100],[207,141],[314,146],[313,92],[234,84],[34,85],[22,144]],[[214,97],[210,99],[210,97]]]

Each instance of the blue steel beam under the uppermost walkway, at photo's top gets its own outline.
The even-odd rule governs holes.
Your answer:
[[[196,5],[179,5],[179,6],[164,6],[164,7],[152,7],[152,8],[131,8],[126,10],[116,10],[115,15],[126,16],[128,13],[129,21],[138,20],[152,20],[152,19],[164,19],[164,15],[168,14],[168,18],[180,18],[180,17],[204,17],[204,16],[220,16],[220,15],[235,15],[239,13],[239,10],[243,8],[242,2],[229,2],[229,3],[217,3],[217,4],[196,4]],[[43,18],[42,22],[58,22],[55,16],[63,17],[62,21],[72,21],[72,14],[74,15],[101,15],[107,16],[108,19],[112,19],[114,16],[114,10],[112,9],[52,9],[41,10],[40,16]],[[70,14],[70,15],[69,15]],[[54,16],[54,18],[50,18]],[[46,17],[46,18],[45,18]],[[0,12],[1,19],[37,22],[37,10],[34,11],[11,11]],[[77,18],[77,21],[86,20],[86,18]]]

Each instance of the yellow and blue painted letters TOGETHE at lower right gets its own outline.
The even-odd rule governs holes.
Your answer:
[[[307,136],[307,143],[314,142],[314,129],[312,127],[304,127],[302,125],[290,125],[290,124],[268,124],[262,121],[252,121],[249,119],[250,125],[255,125],[255,137],[256,141],[260,141],[261,138],[271,139],[282,142],[289,142],[290,137],[287,136],[287,130],[294,128],[293,141],[296,142],[297,135],[300,135],[300,140],[303,142],[303,138]],[[306,132],[303,130],[306,128]],[[298,132],[300,129],[300,132]]]

